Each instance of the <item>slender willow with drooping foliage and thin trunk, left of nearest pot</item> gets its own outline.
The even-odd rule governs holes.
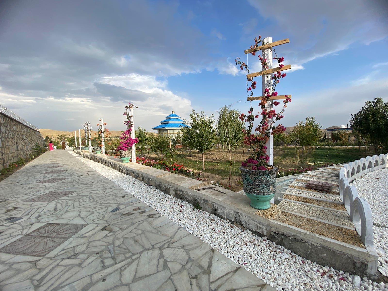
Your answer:
[[[216,125],[220,142],[229,151],[229,185],[232,179],[232,150],[244,137],[242,132],[244,123],[239,119],[239,115],[237,110],[225,105],[220,108],[220,116],[218,116]]]

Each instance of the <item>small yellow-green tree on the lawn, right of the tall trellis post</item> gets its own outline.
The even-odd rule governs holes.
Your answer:
[[[307,117],[305,123],[299,121],[292,130],[292,136],[294,140],[302,147],[302,155],[305,146],[311,145],[320,138],[319,122],[315,120],[315,117]]]

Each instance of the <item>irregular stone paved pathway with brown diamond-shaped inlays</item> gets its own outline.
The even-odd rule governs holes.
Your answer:
[[[70,155],[0,182],[0,290],[275,290]]]

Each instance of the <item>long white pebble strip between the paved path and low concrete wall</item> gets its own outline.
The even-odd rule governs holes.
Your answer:
[[[135,178],[90,159],[80,160],[277,290],[388,291],[388,284],[378,284],[366,277],[360,281],[358,276],[311,262]]]

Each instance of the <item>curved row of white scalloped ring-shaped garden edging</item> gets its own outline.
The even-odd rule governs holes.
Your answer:
[[[369,203],[360,198],[357,188],[349,185],[354,179],[360,178],[365,173],[379,170],[387,166],[388,154],[361,158],[344,165],[340,170],[339,192],[341,200],[352,219],[355,229],[365,247],[373,249],[373,220]]]

